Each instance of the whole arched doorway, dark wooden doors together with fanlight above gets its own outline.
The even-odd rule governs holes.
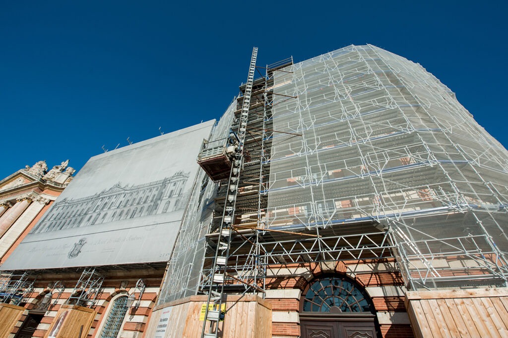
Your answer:
[[[316,278],[302,293],[302,338],[375,338],[380,336],[375,319],[365,290],[346,276]]]

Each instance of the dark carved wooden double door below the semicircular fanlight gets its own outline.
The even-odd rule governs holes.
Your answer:
[[[376,338],[374,315],[361,314],[302,314],[301,338]]]

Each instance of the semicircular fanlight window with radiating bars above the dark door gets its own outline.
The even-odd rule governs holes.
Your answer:
[[[303,301],[304,312],[370,312],[363,293],[351,282],[322,278],[310,285]]]

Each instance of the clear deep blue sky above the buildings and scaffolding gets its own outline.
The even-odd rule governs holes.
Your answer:
[[[372,44],[421,63],[508,145],[498,1],[0,2],[0,178],[219,118],[259,65]]]

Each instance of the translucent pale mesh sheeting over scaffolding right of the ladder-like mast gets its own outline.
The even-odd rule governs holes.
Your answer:
[[[391,243],[409,288],[506,285],[508,154],[446,86],[370,45],[287,70],[274,88],[298,98],[275,100],[273,128],[303,136],[274,135],[269,229],[359,238],[371,222],[380,233],[364,243]],[[319,241],[328,259],[340,247]],[[294,252],[271,245],[268,257]]]

